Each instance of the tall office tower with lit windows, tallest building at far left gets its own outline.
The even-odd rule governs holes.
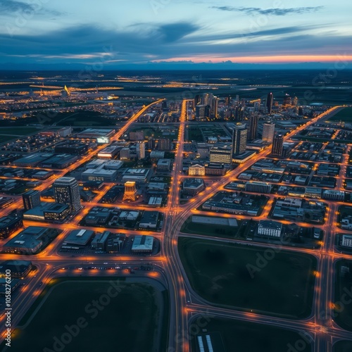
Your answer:
[[[82,208],[80,189],[75,177],[60,177],[53,184],[56,203],[68,204],[71,213]]]

